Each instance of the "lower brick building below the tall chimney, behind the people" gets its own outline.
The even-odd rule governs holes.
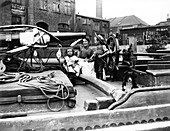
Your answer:
[[[76,14],[75,31],[86,32],[87,37],[90,38],[94,44],[96,41],[95,33],[101,34],[105,38],[110,32],[110,23],[106,19],[94,18]]]

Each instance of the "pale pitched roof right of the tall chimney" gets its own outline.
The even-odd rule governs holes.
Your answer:
[[[120,29],[148,26],[146,22],[139,19],[135,15],[114,17],[108,20],[110,21],[110,30],[112,33],[117,33]]]

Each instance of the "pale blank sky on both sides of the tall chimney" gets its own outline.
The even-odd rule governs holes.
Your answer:
[[[96,0],[75,2],[76,14],[96,17]],[[155,25],[170,18],[170,0],[102,0],[102,3],[103,19],[135,15]]]

